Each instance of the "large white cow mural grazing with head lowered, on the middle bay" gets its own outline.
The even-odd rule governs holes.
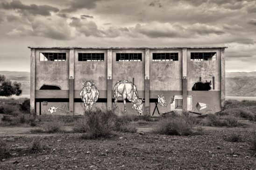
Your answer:
[[[136,88],[135,84],[133,84],[132,82],[129,82],[128,80],[118,81],[114,85],[114,104],[115,104],[116,108],[118,108],[117,107],[118,97],[123,98],[125,112],[126,112],[125,99],[127,99],[128,101],[132,102],[132,109],[133,110],[135,109],[139,115],[143,115],[143,111],[142,111],[142,109],[143,109],[142,100],[143,99],[139,99],[139,95],[138,95],[137,88]]]

